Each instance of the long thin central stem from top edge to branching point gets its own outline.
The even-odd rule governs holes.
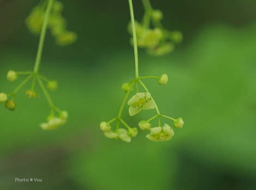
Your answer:
[[[137,46],[137,36],[135,29],[135,19],[132,7],[132,0],[129,0],[130,14],[131,14],[131,22],[132,22],[132,37],[133,37],[133,48],[134,48],[134,56],[135,56],[135,79],[139,77],[139,65],[138,65],[138,46]],[[136,81],[138,83],[138,81]]]

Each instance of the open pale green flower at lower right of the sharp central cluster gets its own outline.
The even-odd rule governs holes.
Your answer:
[[[151,132],[146,137],[151,141],[169,141],[174,136],[174,131],[169,125],[164,124],[163,127],[157,126],[150,128]]]

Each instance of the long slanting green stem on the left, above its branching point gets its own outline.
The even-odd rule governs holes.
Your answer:
[[[50,15],[53,1],[54,0],[48,0],[47,8],[45,11],[44,22],[42,23],[42,30],[41,30],[40,40],[39,40],[39,45],[38,45],[38,52],[36,53],[36,58],[35,58],[34,73],[38,73],[38,70],[39,70],[41,57],[42,57],[42,48],[44,47],[48,18]]]

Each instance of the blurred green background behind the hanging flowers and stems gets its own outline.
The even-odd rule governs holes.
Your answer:
[[[33,69],[39,37],[25,18],[38,2],[0,1],[1,92],[21,80],[10,83],[9,69]],[[62,2],[78,41],[58,47],[48,32],[40,73],[58,80],[51,97],[69,111],[68,123],[40,129],[49,108],[39,88],[39,99],[19,92],[14,112],[2,105],[0,189],[256,189],[256,1],[151,1],[163,11],[163,26],[181,30],[184,41],[157,58],[139,49],[139,74],[168,74],[166,86],[153,79],[145,84],[161,113],[185,124],[168,142],[151,142],[139,130],[131,143],[99,130],[117,115],[121,84],[135,75],[128,2]],[[141,1],[133,5],[141,20]],[[130,118],[125,109],[131,126],[155,114]]]

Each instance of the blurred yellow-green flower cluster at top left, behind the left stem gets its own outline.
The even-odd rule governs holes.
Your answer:
[[[33,34],[38,35],[41,33],[45,17],[45,5],[45,3],[36,5],[26,19],[27,27]],[[63,4],[59,1],[54,1],[47,27],[51,29],[51,34],[55,37],[57,45],[66,46],[75,42],[77,40],[77,35],[66,29],[66,20],[62,16],[62,10]]]

